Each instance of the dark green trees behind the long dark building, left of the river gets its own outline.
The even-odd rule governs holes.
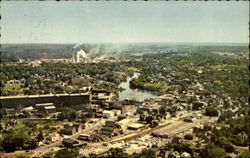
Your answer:
[[[132,73],[119,64],[107,63],[42,63],[38,67],[2,64],[1,69],[2,95],[70,93],[71,91],[77,93],[78,89],[67,90],[62,83],[70,85],[72,78],[86,75],[93,78],[92,82],[100,80],[109,82],[109,86],[103,84],[105,88],[116,90],[119,83],[125,81],[127,76]],[[24,80],[21,84],[21,91],[6,88],[9,80]]]

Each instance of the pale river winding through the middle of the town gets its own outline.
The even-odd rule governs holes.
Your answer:
[[[131,98],[139,98],[139,99],[146,99],[151,96],[154,96],[152,93],[147,91],[142,91],[138,89],[131,89],[129,87],[129,81],[131,81],[133,78],[138,78],[140,73],[134,73],[132,77],[128,77],[126,82],[122,82],[119,87],[124,88],[125,90],[119,93],[119,100],[123,101],[125,99],[131,99]]]

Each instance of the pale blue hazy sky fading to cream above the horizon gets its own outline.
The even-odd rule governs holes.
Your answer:
[[[1,2],[1,43],[247,42],[249,2]]]

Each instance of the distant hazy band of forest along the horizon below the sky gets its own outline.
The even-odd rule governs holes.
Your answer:
[[[15,62],[18,59],[60,59],[72,58],[72,49],[75,44],[3,44],[1,47],[1,61]],[[169,43],[137,43],[137,44],[81,44],[77,49],[83,49],[85,52],[94,54],[113,53],[133,54],[137,53],[210,53],[210,52],[231,52],[239,54],[248,52],[247,44],[169,44]]]

